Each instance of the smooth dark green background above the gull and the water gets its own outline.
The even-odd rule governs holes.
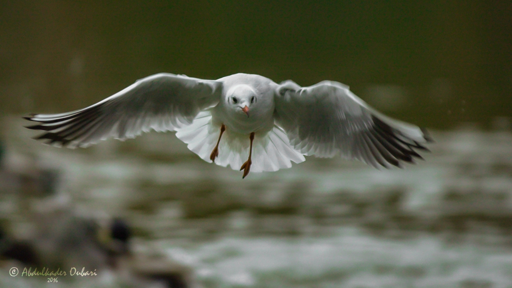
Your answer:
[[[508,1],[11,1],[0,15],[0,110],[57,113],[157,72],[336,80],[407,101],[433,128],[512,115]]]

